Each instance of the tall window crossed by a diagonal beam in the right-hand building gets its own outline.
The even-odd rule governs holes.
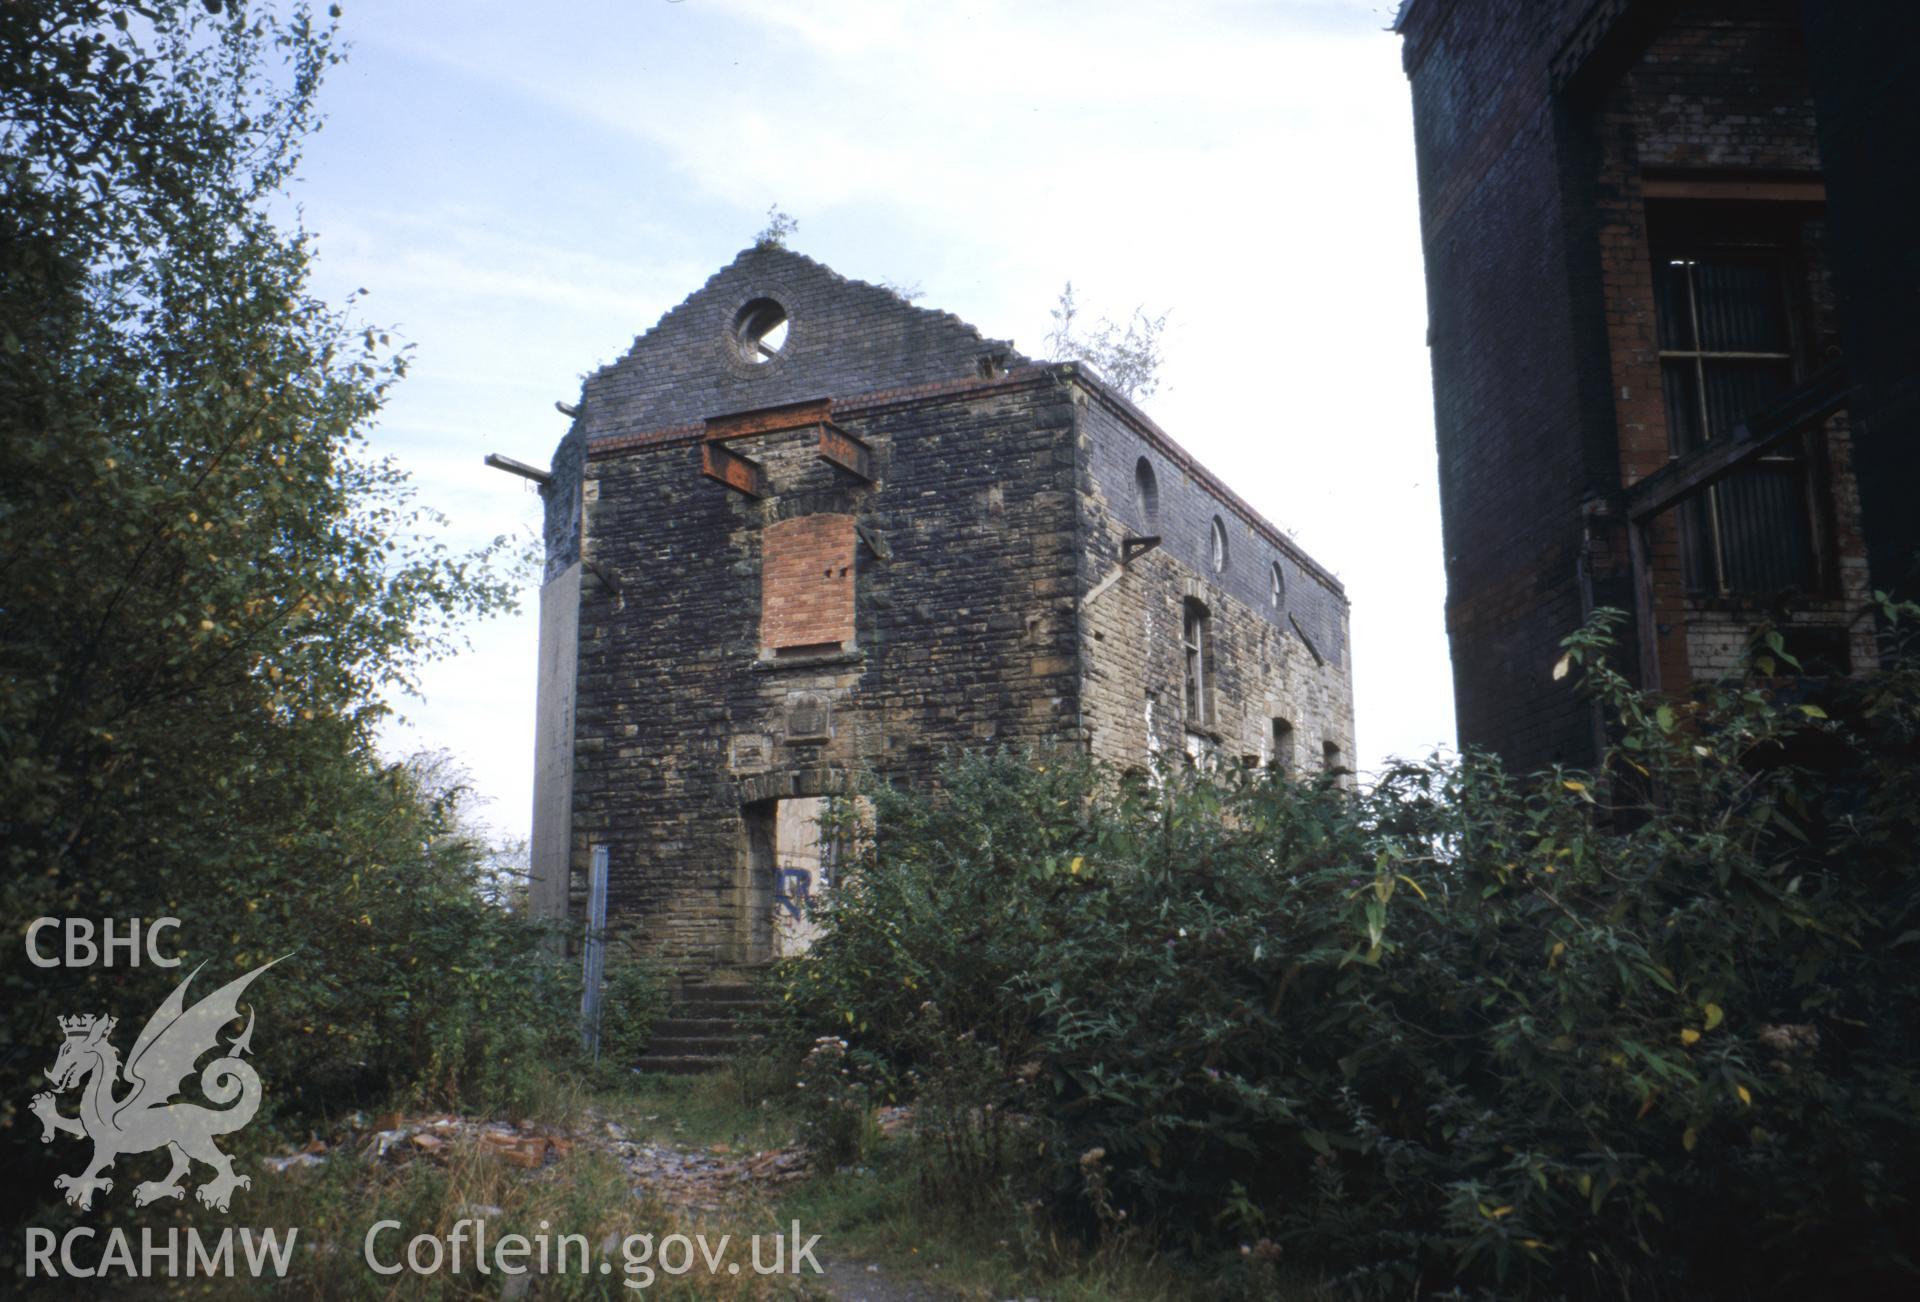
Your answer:
[[[1672,455],[1726,438],[1793,386],[1784,250],[1707,240],[1653,259],[1661,396]],[[1814,584],[1803,440],[1778,444],[1680,505],[1688,590]]]

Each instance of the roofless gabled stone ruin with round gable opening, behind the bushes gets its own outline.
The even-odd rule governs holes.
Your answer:
[[[804,945],[820,801],[962,747],[1342,766],[1348,601],[1083,367],[762,246],[588,376],[541,478],[534,897]]]

